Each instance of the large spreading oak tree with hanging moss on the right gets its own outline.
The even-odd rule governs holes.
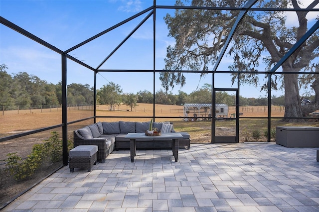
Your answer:
[[[247,0],[192,0],[192,6],[242,7]],[[319,0],[306,1],[308,9],[314,8]],[[180,0],[176,5],[183,6]],[[254,7],[260,8],[301,8],[298,0],[260,0]],[[164,17],[169,29],[169,36],[176,41],[174,46],[167,47],[165,70],[209,70],[225,45],[227,36],[233,27],[240,11],[213,9],[176,9],[174,15]],[[282,11],[249,11],[239,24],[233,37],[228,54],[233,57],[231,71],[269,71],[308,31],[308,11],[294,11],[298,16],[299,26],[290,27],[285,24],[287,16]],[[266,54],[266,56],[265,56]],[[311,37],[294,52],[282,65],[282,71],[300,73],[303,71],[319,71],[319,32]],[[317,62],[316,62],[317,60]],[[259,70],[259,62],[263,61],[266,70]],[[257,74],[240,75],[241,83],[258,86]],[[273,78],[273,88],[282,86],[285,89],[285,120],[302,121],[289,117],[303,117],[312,107],[301,106],[301,83],[310,85],[316,94],[313,104],[319,104],[319,77],[313,75],[304,81],[298,80],[297,74],[278,75]],[[233,75],[235,82],[237,75]],[[163,72],[160,75],[162,86],[166,89],[174,85],[183,86],[185,77],[180,72]],[[281,83],[278,85],[277,83]],[[267,86],[261,89],[267,90]],[[315,108],[315,107],[313,107]],[[304,110],[304,111],[303,111]],[[307,110],[307,111],[306,111]],[[304,114],[303,114],[304,112]]]

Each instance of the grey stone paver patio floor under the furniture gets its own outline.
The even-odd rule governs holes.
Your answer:
[[[192,144],[113,151],[91,172],[68,166],[10,205],[11,211],[319,211],[317,148],[275,143]]]

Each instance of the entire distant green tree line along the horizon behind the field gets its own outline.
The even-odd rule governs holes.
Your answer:
[[[30,75],[26,72],[8,74],[6,65],[0,65],[0,106],[10,109],[14,106],[54,106],[62,103],[61,82],[57,85]],[[67,86],[68,105],[93,105],[94,88],[90,85],[72,83]],[[161,105],[183,105],[185,103],[211,103],[211,85],[205,84],[202,88],[186,94],[178,91],[174,95],[171,92],[160,90],[155,93],[155,104]],[[311,98],[309,98],[311,99]],[[124,93],[120,85],[110,82],[97,90],[97,105],[109,105],[110,110],[116,106],[125,104],[131,110],[138,103],[153,104],[154,96],[150,91],[144,90],[134,93]],[[216,93],[216,103],[235,105],[235,96],[227,92]],[[285,98],[272,97],[272,105],[284,106]],[[266,106],[267,97],[244,98],[240,96],[240,106]]]

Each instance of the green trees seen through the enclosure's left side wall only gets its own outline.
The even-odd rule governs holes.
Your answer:
[[[62,103],[61,83],[54,85],[26,72],[9,75],[6,65],[0,65],[0,105],[54,106]],[[68,104],[93,104],[93,88],[88,84],[67,87]]]

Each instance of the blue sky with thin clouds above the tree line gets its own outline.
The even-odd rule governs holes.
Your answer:
[[[158,5],[173,5],[174,2],[174,0],[157,0]],[[65,51],[152,4],[153,0],[0,0],[0,14]],[[174,40],[167,36],[167,26],[163,21],[167,12],[173,14],[174,10],[157,9],[156,69],[160,70],[164,68],[166,47],[174,44]],[[147,14],[149,12],[69,54],[96,68]],[[8,73],[27,72],[53,84],[61,81],[59,54],[2,24],[0,33],[0,64],[7,65]],[[227,70],[230,62],[230,58],[223,59],[219,69]],[[148,19],[101,68],[153,69],[153,17]],[[70,60],[68,60],[67,73],[68,84],[89,84],[92,87],[94,85],[93,73]],[[156,75],[156,91],[162,89],[158,78],[159,74]],[[221,76],[216,87],[233,88],[229,79],[228,75]],[[119,84],[124,93],[153,91],[153,73],[98,74],[98,88],[109,82]],[[171,92],[176,94],[180,89],[189,94],[205,83],[211,84],[211,76],[200,80],[199,74],[186,74],[186,86],[181,89],[175,87]],[[240,95],[258,98],[266,95],[266,92],[260,93],[259,88],[244,86]]]

